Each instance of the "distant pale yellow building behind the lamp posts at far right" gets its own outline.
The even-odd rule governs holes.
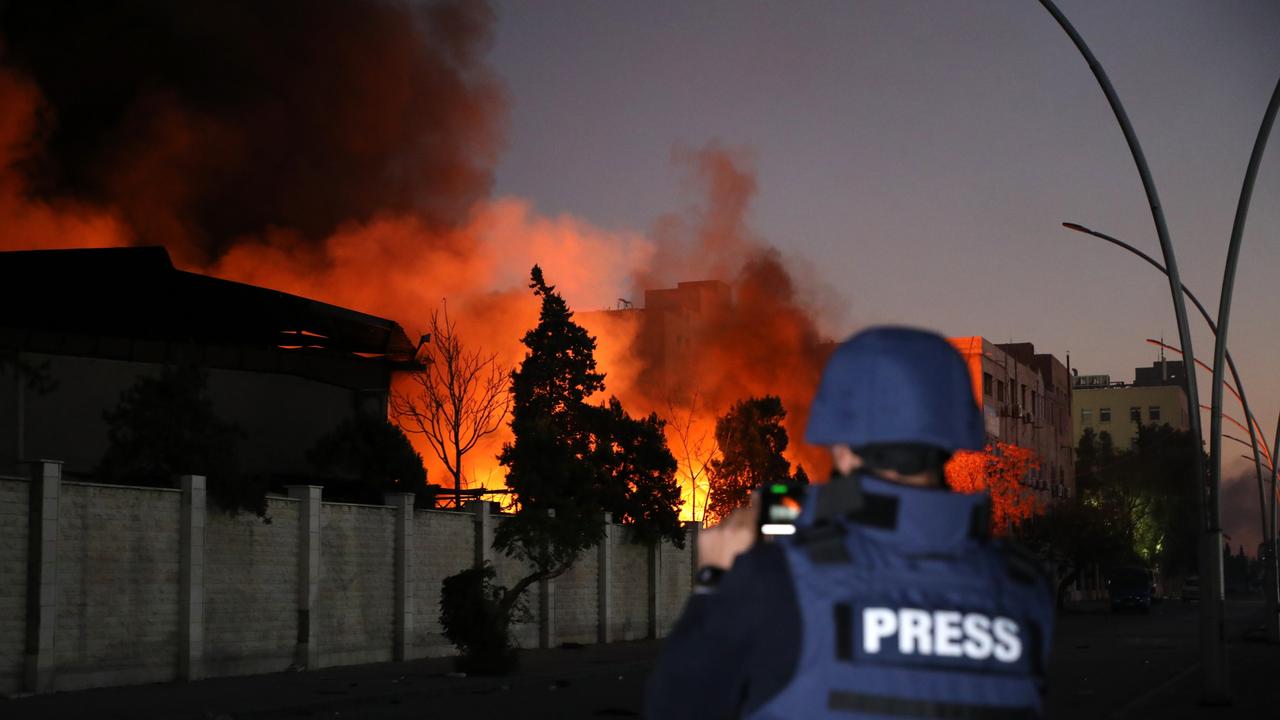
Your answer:
[[[1110,375],[1075,375],[1071,415],[1076,445],[1085,429],[1110,433],[1117,450],[1133,447],[1139,425],[1188,429],[1185,377],[1180,360],[1157,360],[1151,368],[1135,368],[1132,383],[1114,383]]]

